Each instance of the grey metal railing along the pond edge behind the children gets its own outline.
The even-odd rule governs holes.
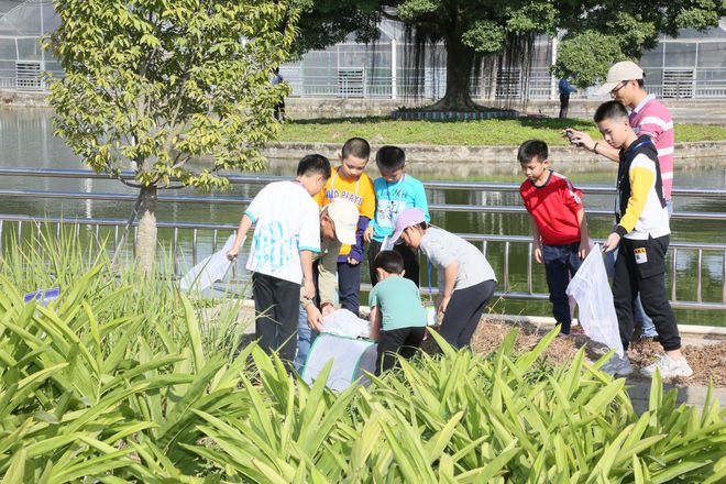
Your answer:
[[[3,168],[0,167],[0,175],[12,176],[43,176],[54,178],[106,178],[106,175],[96,174],[94,172],[84,169],[41,169],[41,168]],[[133,174],[124,172],[121,177],[131,178]],[[230,176],[231,184],[266,184],[274,180],[286,179],[280,176],[254,176],[254,175],[235,175]],[[427,189],[436,190],[480,190],[480,191],[518,191],[518,184],[502,184],[502,183],[476,183],[476,182],[425,182]],[[608,195],[613,194],[612,187],[604,186],[584,186],[583,191],[590,195]],[[99,194],[99,193],[72,193],[72,191],[44,191],[44,190],[0,190],[0,195],[4,197],[33,197],[33,198],[53,198],[53,199],[67,199],[67,200],[112,200],[112,201],[133,201],[136,199],[132,194]],[[676,188],[673,189],[673,195],[676,197],[703,197],[726,199],[726,189],[716,188]],[[220,205],[240,205],[249,202],[249,198],[233,198],[233,197],[205,197],[205,196],[160,196],[160,202],[177,202],[177,204],[220,204]],[[482,213],[524,213],[525,209],[521,207],[507,207],[507,206],[480,206],[480,205],[449,205],[449,204],[432,204],[430,209],[433,211],[470,211]],[[612,217],[609,210],[588,210],[588,215],[607,216]],[[674,219],[691,219],[691,220],[717,220],[726,221],[726,213],[717,212],[674,212]],[[61,238],[62,226],[73,226],[76,233],[80,235],[81,228],[86,228],[88,232],[94,234],[98,241],[101,228],[112,230],[113,245],[118,245],[120,241],[120,233],[122,232],[127,221],[121,219],[98,219],[98,218],[58,218],[58,217],[33,217],[26,215],[0,215],[0,251],[2,251],[2,241],[8,230],[14,229],[14,237],[18,243],[22,243],[24,234],[32,231],[34,237],[38,239],[44,227],[50,228],[55,226],[55,237]],[[10,228],[12,226],[12,229]],[[180,245],[180,231],[190,232],[190,257],[191,265],[197,264],[202,254],[199,246],[199,240],[205,239],[209,241],[209,253],[213,253],[219,248],[219,237],[224,234],[229,237],[237,229],[237,224],[226,223],[199,223],[199,222],[157,222],[160,229],[170,229],[170,240],[174,250],[174,258],[177,258],[177,250]],[[490,255],[491,244],[502,244],[502,273],[498,274],[499,292],[498,296],[513,299],[535,299],[547,300],[548,294],[539,293],[535,289],[534,278],[534,264],[532,264],[532,241],[529,235],[497,235],[497,234],[473,234],[460,233],[465,240],[477,244],[482,248],[485,255]],[[188,240],[187,239],[185,240]],[[526,274],[524,274],[525,284],[524,288],[517,287],[521,284],[514,284],[513,279],[518,276],[520,279],[521,274],[514,274],[512,272],[513,252],[514,248],[517,253],[527,254]],[[670,265],[670,286],[671,286],[671,304],[674,308],[681,309],[706,309],[706,310],[726,310],[726,243],[705,243],[705,242],[681,242],[671,241],[671,265]],[[689,271],[689,277],[695,278],[695,297],[693,300],[679,300],[678,290],[681,287],[682,280],[679,280],[678,261],[679,254],[692,253],[694,254],[695,268]],[[704,254],[717,254],[722,257],[721,263],[721,301],[704,300]],[[179,265],[175,264],[175,275],[180,275]],[[712,271],[713,272],[713,271]],[[237,271],[233,273],[235,277]],[[237,282],[241,279],[237,278]],[[364,287],[365,288],[365,287]]]

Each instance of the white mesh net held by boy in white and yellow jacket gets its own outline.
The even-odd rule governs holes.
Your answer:
[[[570,280],[566,294],[578,301],[580,324],[591,340],[615,349],[623,358],[623,342],[613,302],[613,290],[607,280],[605,263],[595,244]]]

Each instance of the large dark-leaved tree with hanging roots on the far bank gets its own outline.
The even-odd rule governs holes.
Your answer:
[[[509,57],[527,68],[527,47],[536,34],[566,31],[557,73],[581,86],[600,80],[608,65],[637,58],[658,35],[716,25],[723,0],[293,0],[300,9],[298,51],[320,48],[350,32],[375,37],[376,15],[404,22],[418,41],[442,42],[447,91],[433,109],[477,109],[470,96],[472,74],[482,58]],[[522,48],[524,46],[524,48]],[[573,53],[575,51],[575,53]],[[512,57],[520,58],[512,58]]]

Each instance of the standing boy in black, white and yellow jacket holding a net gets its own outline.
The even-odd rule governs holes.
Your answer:
[[[652,376],[691,376],[693,370],[681,353],[675,316],[666,295],[666,252],[671,233],[658,151],[650,138],[632,131],[628,113],[617,101],[601,105],[595,122],[607,144],[620,151],[615,220],[617,226],[604,244],[606,252],[618,249],[613,279],[613,299],[623,348],[632,338],[632,300],[640,292],[646,314],[652,318],[666,354],[642,369]],[[625,359],[614,358],[605,371],[627,375],[632,369]]]

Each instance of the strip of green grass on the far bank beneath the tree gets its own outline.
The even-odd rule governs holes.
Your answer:
[[[279,141],[344,143],[362,136],[374,144],[450,144],[516,146],[540,139],[550,145],[569,145],[564,128],[575,128],[600,139],[594,123],[582,120],[529,119],[488,121],[396,121],[388,118],[345,118],[290,121]],[[726,140],[726,128],[676,124],[678,142]]]

